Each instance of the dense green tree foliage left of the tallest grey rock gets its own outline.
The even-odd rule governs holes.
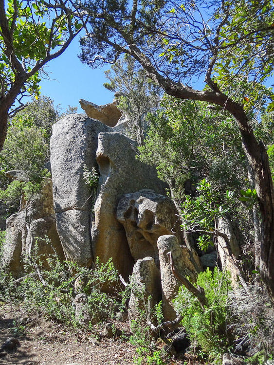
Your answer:
[[[67,113],[75,112],[69,107]],[[25,197],[40,191],[44,177],[50,176],[46,163],[50,159],[52,126],[66,113],[60,113],[48,96],[33,97],[23,110],[9,120],[9,128],[0,151],[0,200],[10,215],[19,208],[22,191]],[[9,170],[23,171],[25,182],[11,182],[5,176]]]

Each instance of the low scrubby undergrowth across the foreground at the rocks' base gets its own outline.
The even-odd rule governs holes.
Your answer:
[[[4,233],[0,232],[0,256],[3,242]],[[74,298],[79,292],[85,293],[91,330],[94,324],[112,319],[116,311],[125,310],[131,297],[129,341],[136,347],[134,364],[166,363],[171,343],[164,343],[159,339],[160,331],[152,330],[164,321],[162,302],[155,305],[145,284],[132,276],[130,284],[122,290],[111,259],[101,263],[97,257],[91,270],[73,262],[62,262],[56,254],[46,259],[47,268],[44,261],[45,257],[37,256],[36,240],[31,261],[26,257],[25,274],[19,281],[1,262],[0,301],[14,310],[20,306],[32,314],[42,314],[75,328],[81,325],[75,316]],[[44,283],[38,277],[37,267]],[[174,299],[174,308],[182,315],[180,325],[191,340],[193,358],[198,355],[211,364],[220,364],[224,352],[236,351],[248,355],[246,364],[264,364],[271,359],[274,310],[259,284],[247,284],[248,290],[240,286],[231,288],[229,274],[215,268],[213,273],[207,269],[198,274],[195,285],[203,288],[207,307],[201,306],[183,286]],[[106,287],[112,287],[111,295],[104,292]]]

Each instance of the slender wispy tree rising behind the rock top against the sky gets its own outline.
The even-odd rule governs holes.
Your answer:
[[[146,114],[159,107],[161,88],[147,79],[140,65],[127,56],[117,60],[105,74],[110,80],[105,88],[116,92],[117,107],[127,116],[129,136],[143,146],[148,127]]]

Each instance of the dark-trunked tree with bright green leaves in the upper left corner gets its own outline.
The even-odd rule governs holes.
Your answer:
[[[72,0],[0,0],[0,150],[7,121],[39,94],[39,75],[85,27],[87,15]]]

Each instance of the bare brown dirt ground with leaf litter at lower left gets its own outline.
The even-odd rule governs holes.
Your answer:
[[[26,316],[7,305],[0,305],[0,346],[9,338],[18,338],[20,347],[0,358],[3,365],[131,365],[136,348],[126,340],[128,323],[115,322],[121,337],[104,338],[69,329],[41,316]],[[163,364],[200,365],[190,355],[172,355]]]

